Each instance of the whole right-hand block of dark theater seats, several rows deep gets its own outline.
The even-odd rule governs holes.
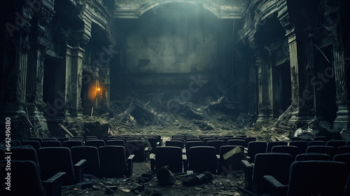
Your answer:
[[[319,139],[249,143],[246,188],[258,195],[349,196],[349,142]]]

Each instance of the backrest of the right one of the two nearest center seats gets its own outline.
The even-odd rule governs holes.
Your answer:
[[[194,146],[190,148],[188,157],[188,169],[194,172],[205,171],[216,174],[218,168],[216,149],[212,146]]]

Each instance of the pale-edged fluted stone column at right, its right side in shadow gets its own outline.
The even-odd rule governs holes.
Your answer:
[[[287,1],[283,1],[279,6],[278,18],[281,25],[286,29],[289,45],[293,107],[290,122],[301,126],[309,123],[314,118],[314,115],[310,113],[311,108],[314,107],[314,90],[310,85],[307,85],[307,78],[310,76],[308,76],[308,73],[311,73],[309,70],[314,69],[312,41],[311,38],[305,40],[304,36],[298,34],[295,30],[295,25],[289,18]]]

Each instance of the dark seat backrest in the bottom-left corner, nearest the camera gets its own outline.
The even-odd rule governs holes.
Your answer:
[[[10,172],[10,191],[7,187],[5,179],[7,176],[6,165],[7,161],[0,161],[0,195],[8,196],[44,196],[43,186],[38,171],[38,166],[35,162],[26,160],[11,160]]]

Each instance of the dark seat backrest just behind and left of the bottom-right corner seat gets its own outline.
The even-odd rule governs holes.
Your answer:
[[[274,176],[282,184],[288,184],[289,168],[294,160],[287,153],[259,153],[255,156],[253,171],[253,193],[267,193],[268,184],[264,176]]]

